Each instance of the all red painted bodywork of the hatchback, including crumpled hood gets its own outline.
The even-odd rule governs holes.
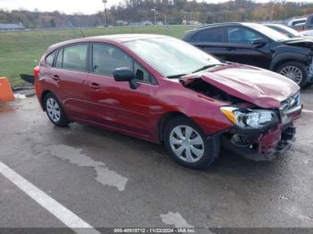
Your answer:
[[[72,121],[160,142],[162,122],[173,113],[188,116],[207,136],[233,128],[233,123],[220,111],[221,106],[230,103],[187,88],[195,79],[203,79],[231,96],[268,109],[279,108],[283,100],[300,89],[289,79],[274,72],[238,63],[185,76],[182,82],[179,79],[167,79],[123,46],[123,41],[134,38],[116,38],[118,37],[82,38],[50,46],[39,63],[40,70],[35,69],[35,88],[42,107],[44,108],[42,97],[47,91],[52,92],[63,104],[64,112]],[[74,43],[106,43],[117,46],[149,71],[156,79],[156,84],[139,82],[139,88],[131,89],[128,82],[116,82],[112,77],[57,69],[45,63],[47,54]],[[291,113],[290,117],[293,121],[300,117],[300,112]],[[279,136],[282,130],[277,127],[256,139],[259,151],[273,151],[281,139]]]

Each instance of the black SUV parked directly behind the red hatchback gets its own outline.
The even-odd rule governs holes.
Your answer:
[[[258,23],[216,23],[187,31],[183,40],[236,63],[276,71],[301,88],[313,82],[313,41],[288,38]]]

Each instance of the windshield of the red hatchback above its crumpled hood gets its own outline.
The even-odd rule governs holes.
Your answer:
[[[165,77],[179,77],[223,64],[195,46],[176,38],[149,38],[124,43]]]

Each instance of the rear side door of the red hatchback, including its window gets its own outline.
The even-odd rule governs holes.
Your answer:
[[[88,104],[88,47],[89,44],[64,46],[57,51],[51,78],[57,85],[56,95],[63,102],[65,112],[75,120],[85,120]]]

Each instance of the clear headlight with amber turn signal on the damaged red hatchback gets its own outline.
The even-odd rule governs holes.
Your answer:
[[[275,112],[266,110],[252,110],[231,106],[221,107],[221,112],[241,128],[261,129],[271,123],[278,122]]]

